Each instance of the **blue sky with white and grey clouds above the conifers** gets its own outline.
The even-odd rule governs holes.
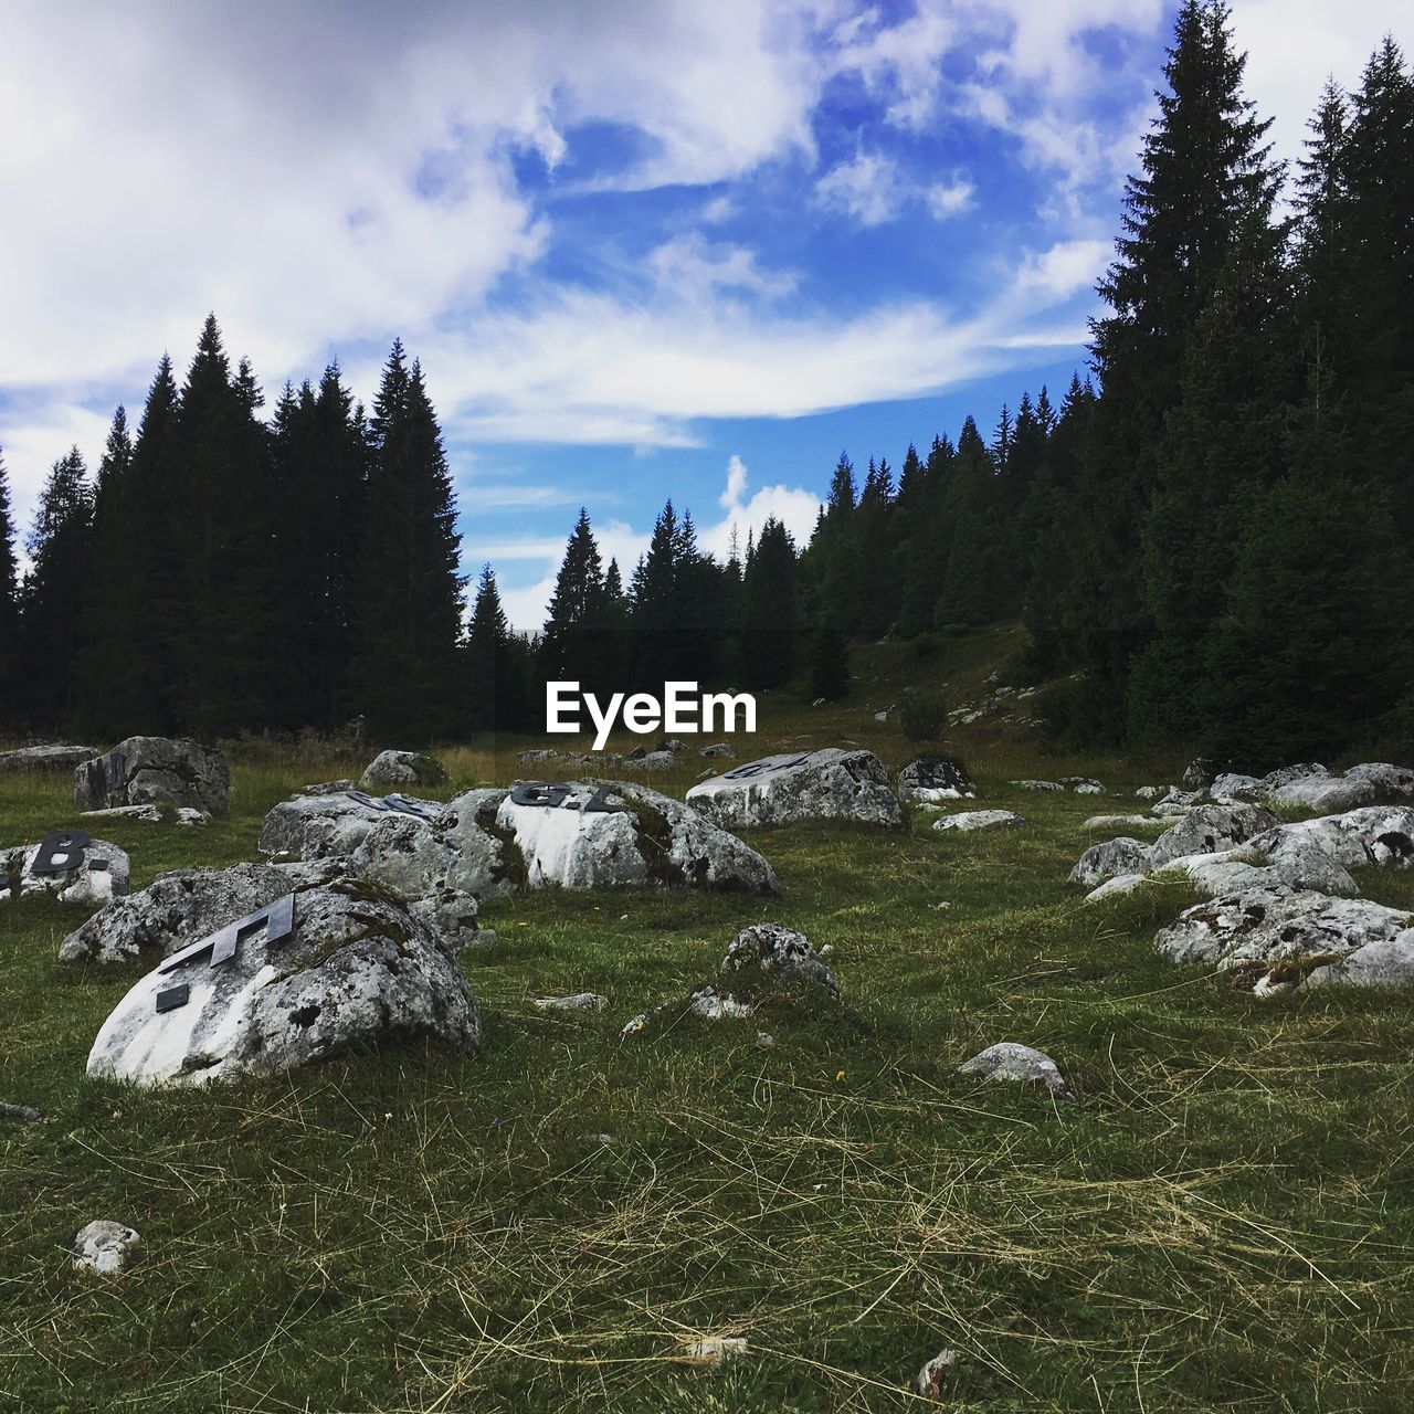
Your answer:
[[[1234,0],[1301,151],[1403,0]],[[421,359],[512,621],[588,508],[809,537],[841,450],[1085,372],[1159,0],[0,0],[0,448],[21,530],[215,311],[269,403]],[[1407,28],[1407,24],[1406,24]]]

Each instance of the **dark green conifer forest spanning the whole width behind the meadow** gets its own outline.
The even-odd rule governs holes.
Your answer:
[[[372,411],[331,366],[269,420],[215,320],[163,361],[96,474],[54,467],[17,583],[0,468],[11,727],[540,730],[547,679],[841,694],[848,645],[1021,618],[1007,665],[1072,745],[1249,766],[1414,735],[1414,79],[1393,40],[1328,83],[1294,173],[1243,96],[1217,0],[1186,0],[1100,280],[1090,373],[983,436],[841,455],[809,542],[720,560],[663,508],[648,551],[570,534],[543,633],[492,568],[465,612],[455,498],[419,365]]]

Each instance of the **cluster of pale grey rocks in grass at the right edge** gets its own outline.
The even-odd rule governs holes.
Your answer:
[[[1209,902],[1159,932],[1159,953],[1209,963],[1257,995],[1414,981],[1414,915],[1359,898],[1353,874],[1414,868],[1414,800],[1290,823],[1268,805],[1213,803],[1237,793],[1275,806],[1367,800],[1370,789],[1411,799],[1414,772],[1374,764],[1336,776],[1324,766],[1291,766],[1264,778],[1210,775],[1203,783],[1205,765],[1189,769],[1182,792],[1189,799],[1155,841],[1121,836],[1093,846],[1070,881],[1100,899],[1150,878],[1185,878]]]

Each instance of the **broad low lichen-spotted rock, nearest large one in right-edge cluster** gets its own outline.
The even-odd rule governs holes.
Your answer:
[[[1154,945],[1169,962],[1216,964],[1263,994],[1331,983],[1414,981],[1408,912],[1284,885],[1186,909]]]

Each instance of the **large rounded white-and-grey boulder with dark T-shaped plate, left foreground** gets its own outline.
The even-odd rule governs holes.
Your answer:
[[[175,1010],[158,993],[187,986]],[[221,966],[197,957],[151,971],[117,1004],[89,1075],[189,1086],[281,1075],[362,1046],[437,1042],[469,1052],[481,1015],[430,928],[358,880],[304,889],[288,936],[247,937]]]

